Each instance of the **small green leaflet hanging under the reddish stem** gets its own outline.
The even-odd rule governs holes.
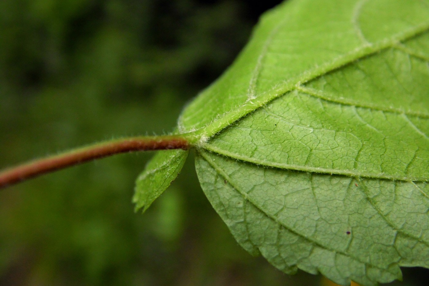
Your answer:
[[[177,177],[186,161],[189,150],[158,151],[136,180],[133,203],[136,210],[148,209]]]

